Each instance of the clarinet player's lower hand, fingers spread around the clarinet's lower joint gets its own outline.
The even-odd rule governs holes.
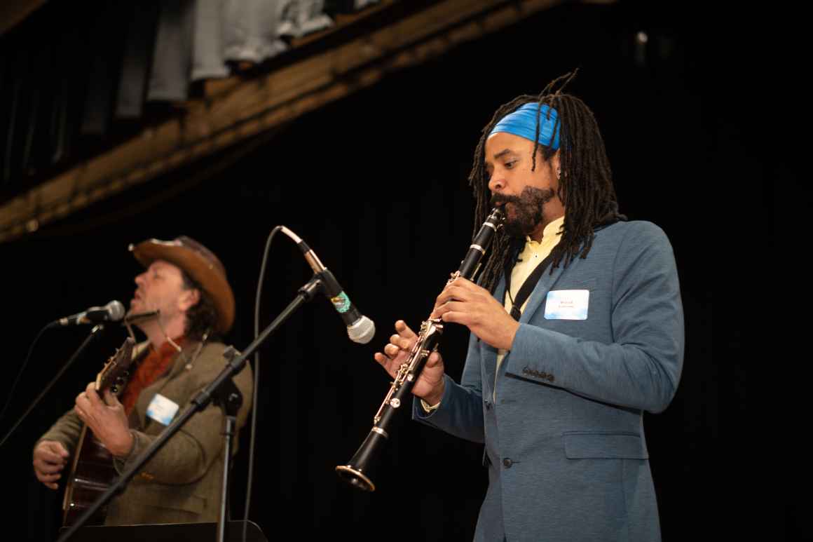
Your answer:
[[[392,378],[395,378],[398,368],[409,358],[412,347],[415,346],[415,340],[418,338],[418,335],[409,326],[406,326],[406,322],[403,320],[395,322],[395,331],[396,333],[389,338],[389,344],[384,347],[384,353],[376,352],[373,355]],[[428,404],[437,404],[446,387],[443,373],[441,354],[432,352],[429,354],[415,386],[412,387],[412,394]]]

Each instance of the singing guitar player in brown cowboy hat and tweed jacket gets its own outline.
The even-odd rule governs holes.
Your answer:
[[[145,267],[135,279],[128,310],[128,321],[146,335],[133,348],[131,376],[118,396],[110,389],[97,392],[96,382],[91,382],[33,450],[34,471],[46,487],[57,489],[60,479],[68,479],[66,525],[93,503],[83,503],[81,497],[93,495],[93,489],[99,493],[98,488],[109,485],[116,471],[127,469],[128,461],[138,457],[226,363],[226,347],[218,338],[233,324],[235,303],[217,256],[185,236],[172,241],[150,239],[129,248]],[[249,413],[251,379],[250,365],[234,377],[243,396],[238,431]],[[109,502],[104,518],[95,518],[96,522],[216,522],[224,464],[223,424],[222,410],[214,403],[196,413]],[[80,435],[87,432],[110,456],[110,479],[103,479],[102,469],[97,469],[96,480],[85,480],[88,472],[95,472],[92,469],[81,477],[73,474],[86,453]],[[235,436],[235,452],[237,442]],[[98,457],[95,452],[92,455]],[[85,482],[88,487],[79,487]]]

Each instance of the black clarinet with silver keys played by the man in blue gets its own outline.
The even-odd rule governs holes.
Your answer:
[[[458,277],[473,280],[480,269],[480,260],[483,259],[485,251],[489,249],[494,234],[502,227],[503,218],[502,208],[492,209],[489,217],[480,226],[480,231],[472,240],[472,246],[468,248],[463,261],[460,262],[460,268],[451,274],[451,278],[446,282],[447,285]],[[389,387],[384,402],[381,403],[378,412],[372,418],[370,433],[350,461],[336,467],[337,474],[346,483],[366,492],[376,491],[376,486],[369,476],[371,466],[380,447],[385,444],[386,439],[389,439],[389,426],[393,423],[395,413],[409,397],[412,387],[426,365],[429,354],[437,350],[442,333],[443,322],[440,318],[429,318],[421,323],[420,334],[410,351],[409,358],[398,368],[398,374],[395,375],[395,380]]]

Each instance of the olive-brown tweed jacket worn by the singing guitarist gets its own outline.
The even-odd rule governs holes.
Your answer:
[[[128,457],[114,461],[119,473],[124,472],[165,427],[146,416],[155,394],[159,393],[179,405],[177,417],[188,408],[189,400],[224,369],[224,344],[207,343],[195,356],[198,345],[196,342],[187,343],[167,371],[141,391],[129,420],[134,430],[135,445]],[[251,405],[250,365],[246,365],[233,379],[243,396],[237,414],[239,431],[246,424]],[[223,411],[214,403],[191,417],[133,477],[124,492],[110,501],[105,523],[216,522],[224,464],[223,423]],[[73,454],[81,428],[82,422],[71,409],[40,440],[59,441]],[[237,441],[236,436],[234,452],[237,452]]]

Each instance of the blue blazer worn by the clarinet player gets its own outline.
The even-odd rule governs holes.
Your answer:
[[[589,291],[585,319],[546,307],[562,290]],[[440,407],[427,415],[415,401],[413,417],[485,443],[475,540],[660,540],[642,414],[672,400],[683,352],[672,246],[644,221],[598,229],[585,259],[542,275],[496,400],[497,349],[472,334],[460,383],[447,375]]]

